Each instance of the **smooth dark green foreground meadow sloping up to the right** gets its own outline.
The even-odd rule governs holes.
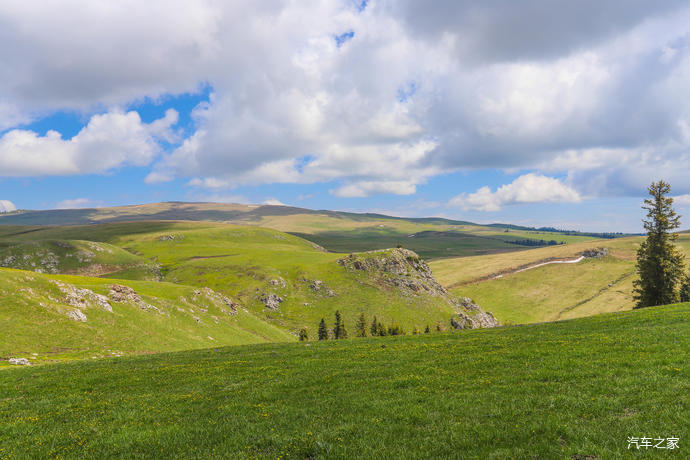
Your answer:
[[[684,458],[688,348],[685,304],[4,370],[0,457]]]

